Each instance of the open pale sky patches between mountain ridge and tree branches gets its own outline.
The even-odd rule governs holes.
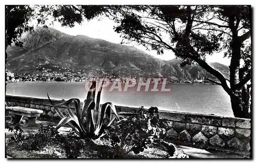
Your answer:
[[[115,24],[113,20],[105,17],[101,20],[93,19],[90,21],[83,21],[81,25],[76,24],[73,28],[61,27],[59,22],[55,22],[51,27],[69,35],[86,35],[92,38],[99,38],[113,43],[120,43],[122,38],[120,37],[120,34],[116,33],[113,29],[113,27],[116,25],[117,24]],[[165,50],[163,55],[157,55],[156,51],[148,51],[144,46],[138,45],[136,43],[126,45],[134,46],[135,48],[142,50],[147,54],[163,60],[170,60],[175,58],[175,55],[172,51]],[[223,53],[207,56],[206,61],[219,62],[225,65],[230,64],[230,59],[223,58]]]

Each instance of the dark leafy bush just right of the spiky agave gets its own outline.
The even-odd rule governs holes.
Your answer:
[[[120,157],[133,151],[138,154],[147,145],[160,142],[160,136],[165,131],[161,128],[158,108],[151,107],[148,112],[142,107],[139,113],[122,120],[122,123],[108,128],[114,157]]]

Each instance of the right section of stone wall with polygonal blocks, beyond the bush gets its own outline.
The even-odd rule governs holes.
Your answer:
[[[250,119],[181,112],[160,112],[168,139],[204,149],[248,151]]]

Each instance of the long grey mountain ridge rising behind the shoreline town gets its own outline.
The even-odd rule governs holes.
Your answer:
[[[121,76],[168,77],[175,82],[204,79],[213,76],[193,64],[180,67],[178,59],[164,61],[132,46],[95,39],[72,36],[53,28],[38,27],[22,37],[23,48],[7,48],[6,68],[16,73],[40,74],[38,67],[54,71],[84,72],[99,76],[103,73]],[[220,63],[210,63],[225,76],[229,69]]]

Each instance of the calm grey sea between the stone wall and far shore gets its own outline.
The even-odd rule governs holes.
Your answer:
[[[124,91],[124,84],[120,89],[116,86],[112,90],[111,87],[110,84],[103,88],[101,104],[112,102],[129,107],[155,106],[159,110],[234,117],[230,98],[220,85],[166,84],[164,88],[169,91],[161,91],[161,84],[157,85],[158,91],[151,91],[154,83],[148,91],[145,91],[145,86],[138,90],[138,84],[127,88],[127,91]],[[6,95],[47,99],[48,93],[55,100],[78,98],[83,102],[87,92],[86,84],[82,82],[20,82],[6,85]]]

